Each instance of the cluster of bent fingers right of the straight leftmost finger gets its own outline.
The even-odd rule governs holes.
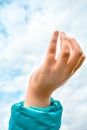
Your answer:
[[[77,41],[63,32],[60,35],[60,47],[57,66],[60,64],[67,74],[71,75],[82,65],[85,56]]]

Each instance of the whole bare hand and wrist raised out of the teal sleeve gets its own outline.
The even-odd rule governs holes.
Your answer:
[[[56,48],[59,32],[55,31],[48,46],[46,57],[41,66],[31,75],[25,96],[25,107],[47,107],[54,90],[65,84],[81,67],[85,55],[77,41],[60,33],[60,53]]]

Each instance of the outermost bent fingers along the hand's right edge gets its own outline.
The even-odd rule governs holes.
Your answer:
[[[81,67],[83,61],[85,60],[85,56],[82,52],[81,47],[77,43],[77,41],[73,38],[66,36],[66,39],[69,41],[70,45],[70,57],[67,65],[67,72],[74,74],[79,67]]]

